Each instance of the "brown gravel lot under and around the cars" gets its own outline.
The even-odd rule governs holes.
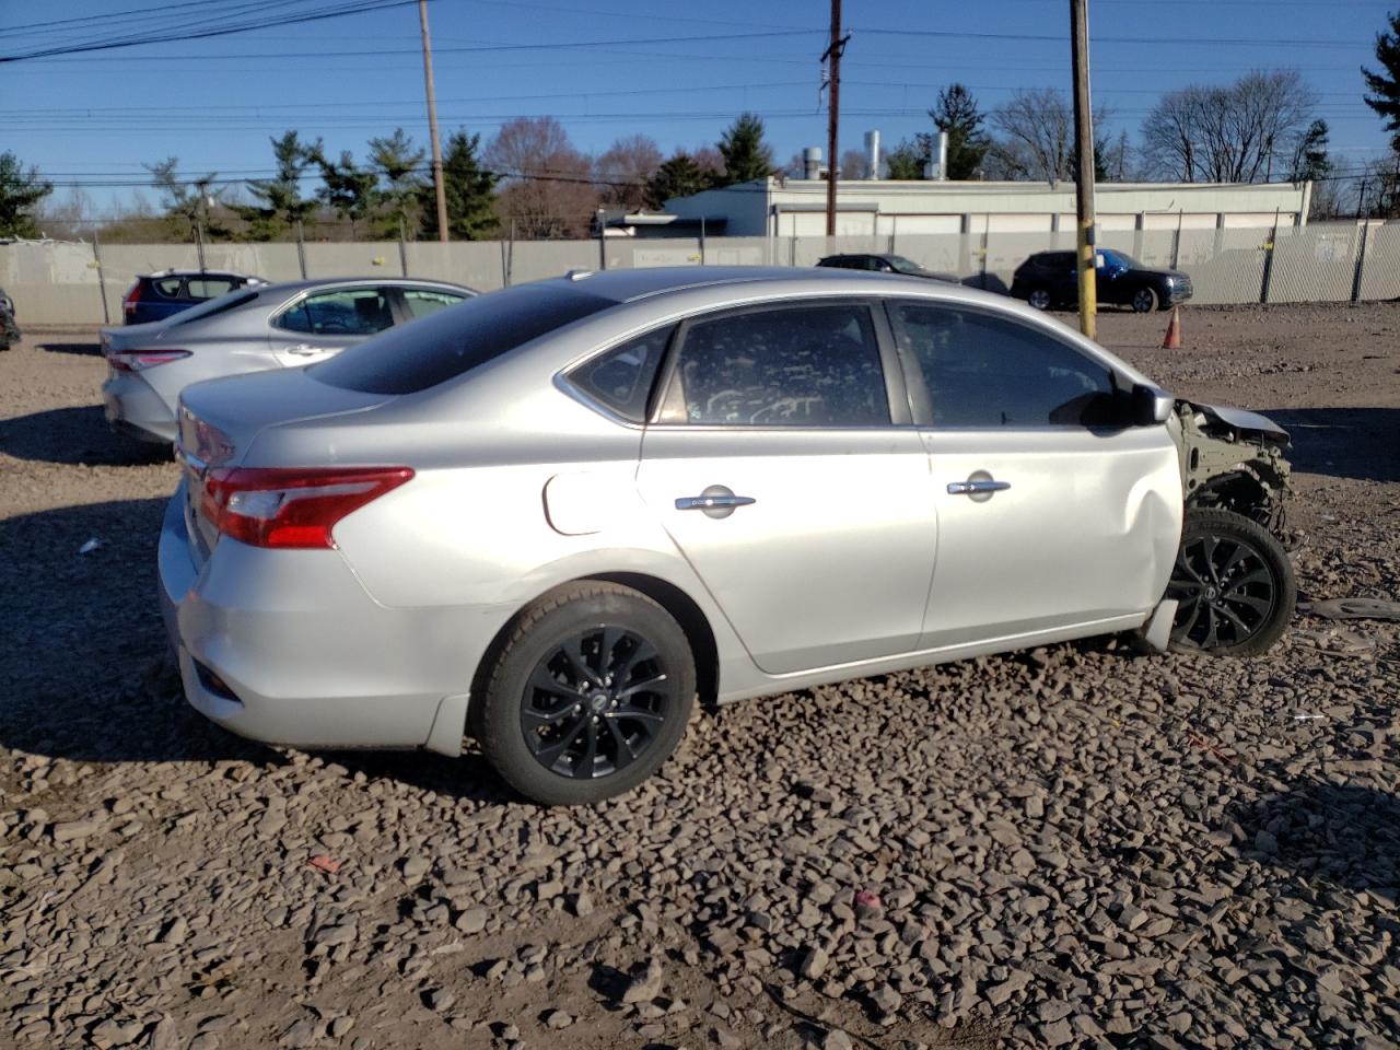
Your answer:
[[[1305,598],[1400,598],[1400,305],[1105,315],[1292,428]],[[0,1043],[1400,1044],[1400,624],[1099,638],[696,717],[592,809],[189,711],[95,336],[0,354]],[[97,539],[87,554],[80,547]]]

